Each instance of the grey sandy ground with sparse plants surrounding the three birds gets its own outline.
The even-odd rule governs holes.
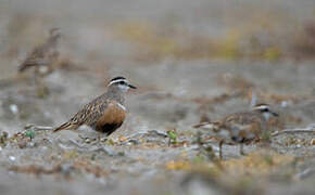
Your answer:
[[[315,3],[15,0],[0,5],[1,194],[315,193],[314,133],[284,133],[268,146],[247,145],[247,156],[239,155],[238,145],[224,145],[224,159],[218,160],[217,141],[207,138],[201,146],[192,128],[204,115],[216,120],[247,110],[256,96],[280,113],[274,131],[312,130],[314,60],[288,57],[292,50],[281,40],[284,57],[274,48],[265,57],[240,57],[244,53],[231,44],[235,37],[249,34],[236,29],[261,29],[249,27],[256,18],[274,18],[266,25],[273,26],[274,38],[290,40],[308,22]],[[42,94],[32,70],[18,75],[16,67],[51,26],[63,31],[61,64],[66,66],[42,79],[49,90]],[[255,35],[265,42],[275,40],[268,39],[270,32]],[[217,39],[224,43],[210,42],[226,50],[213,52],[202,43]],[[127,119],[108,141],[94,142],[97,134],[85,130],[24,128],[64,122],[121,75],[138,89],[127,94]],[[171,145],[168,130],[177,134]]]

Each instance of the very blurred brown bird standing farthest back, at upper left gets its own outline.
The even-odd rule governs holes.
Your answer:
[[[47,41],[35,48],[32,53],[18,66],[18,72],[23,73],[30,67],[35,67],[36,75],[45,75],[52,70],[52,64],[59,58],[58,44],[61,38],[59,28],[49,30]]]

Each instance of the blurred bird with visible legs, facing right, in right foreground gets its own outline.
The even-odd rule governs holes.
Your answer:
[[[222,146],[225,141],[240,144],[240,154],[243,153],[243,143],[250,143],[260,139],[262,133],[268,131],[267,121],[270,117],[279,115],[270,109],[268,104],[256,104],[252,110],[235,113],[226,116],[219,121],[202,122],[194,128],[211,129],[219,138],[219,157],[222,158]]]

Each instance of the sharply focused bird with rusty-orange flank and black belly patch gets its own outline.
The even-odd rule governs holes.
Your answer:
[[[53,131],[76,130],[86,125],[98,132],[110,135],[118,129],[126,117],[125,93],[128,89],[137,89],[124,77],[113,78],[105,93],[86,104],[67,122]]]

